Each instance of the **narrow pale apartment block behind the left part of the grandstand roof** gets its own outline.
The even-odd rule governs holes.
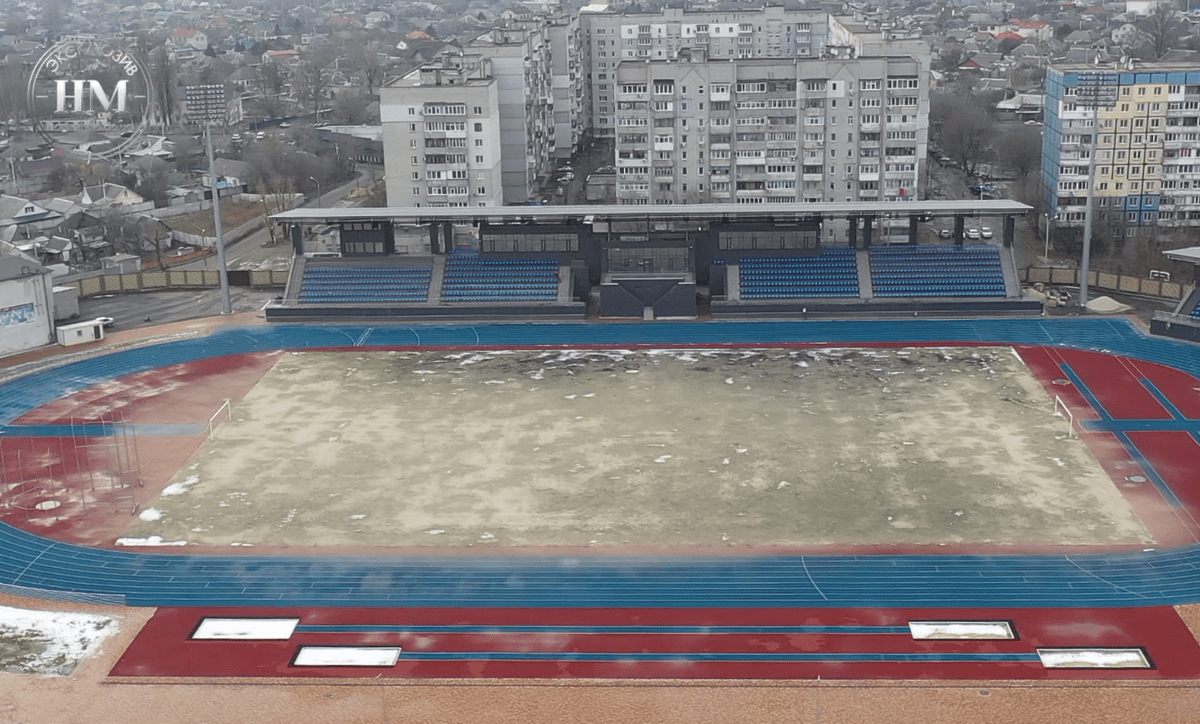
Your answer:
[[[379,94],[389,205],[504,203],[500,84],[490,59],[446,54]]]

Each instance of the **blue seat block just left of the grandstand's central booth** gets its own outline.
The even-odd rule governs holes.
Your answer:
[[[554,259],[481,259],[455,251],[446,256],[442,301],[554,301]]]

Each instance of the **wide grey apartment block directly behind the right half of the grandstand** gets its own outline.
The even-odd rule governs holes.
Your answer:
[[[683,55],[617,67],[618,203],[902,201],[918,193],[929,89],[917,61]]]

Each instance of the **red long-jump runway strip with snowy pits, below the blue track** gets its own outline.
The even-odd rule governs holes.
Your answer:
[[[191,641],[206,616],[299,617],[312,624],[392,626],[895,626],[908,621],[1010,621],[1014,641],[916,641],[907,633],[607,634],[296,633],[288,641]],[[302,645],[400,646],[394,668],[296,668]],[[1150,670],[1051,670],[1038,662],[694,662],[689,653],[1033,653],[1038,647],[1142,647]],[[559,660],[406,660],[420,652],[557,652]],[[674,662],[569,660],[578,652],[667,652]],[[160,609],[110,676],[395,678],[1200,678],[1200,647],[1171,608],[1049,610],[870,609]]]

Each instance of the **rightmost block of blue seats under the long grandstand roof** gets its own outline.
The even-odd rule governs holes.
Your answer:
[[[1000,250],[989,244],[871,249],[875,297],[1004,297]]]

